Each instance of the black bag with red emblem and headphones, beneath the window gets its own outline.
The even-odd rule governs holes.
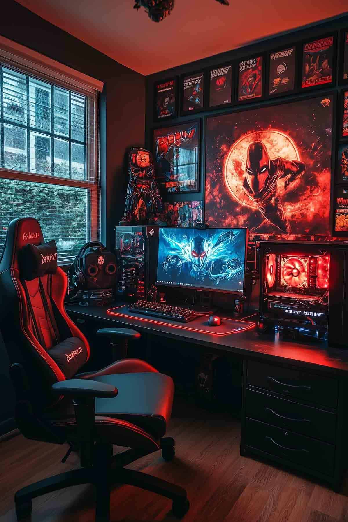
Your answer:
[[[83,245],[69,268],[70,282],[82,292],[82,306],[109,304],[117,277],[117,257],[99,241]]]

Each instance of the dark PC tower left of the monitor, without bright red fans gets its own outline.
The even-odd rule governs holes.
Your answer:
[[[156,279],[159,227],[115,227],[118,294],[146,299]]]

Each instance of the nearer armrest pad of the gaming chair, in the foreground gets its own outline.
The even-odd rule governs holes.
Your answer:
[[[73,397],[116,397],[118,389],[111,384],[92,381],[91,379],[68,379],[52,386],[53,392]]]

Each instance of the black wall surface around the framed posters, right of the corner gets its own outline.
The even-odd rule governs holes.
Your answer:
[[[231,111],[243,111],[248,108],[257,108],[258,106],[262,106],[266,103],[274,103],[278,104],[282,99],[291,99],[291,98],[301,98],[301,96],[308,95],[308,92],[303,94],[294,94],[293,96],[285,96],[278,99],[273,100],[265,100],[263,102],[249,102],[245,105],[233,106],[232,108],[226,109],[217,109],[210,110],[206,112],[199,112],[195,114],[189,114],[188,116],[181,116],[176,118],[176,120],[169,120],[167,122],[153,122],[153,85],[155,81],[165,80],[167,78],[171,78],[172,76],[180,76],[183,74],[195,73],[197,71],[201,71],[202,69],[208,69],[212,66],[219,66],[226,62],[237,61],[247,59],[251,55],[255,55],[256,53],[264,53],[270,50],[277,50],[280,47],[291,46],[296,42],[301,42],[305,39],[310,40],[311,38],[320,37],[321,35],[327,33],[328,31],[337,31],[341,28],[348,27],[348,16],[342,16],[338,18],[334,18],[331,20],[327,20],[322,23],[318,23],[317,25],[311,27],[305,27],[293,30],[291,32],[287,32],[281,35],[275,35],[274,37],[270,37],[268,39],[252,43],[243,48],[236,49],[233,51],[217,54],[214,56],[210,56],[208,58],[204,58],[203,60],[198,60],[196,62],[191,62],[185,65],[181,65],[179,67],[174,67],[172,69],[164,70],[160,73],[155,73],[147,76],[147,85],[146,85],[146,127],[145,127],[145,144],[146,147],[152,150],[152,128],[160,127],[164,125],[171,125],[183,121],[189,121],[196,118],[200,118],[202,120],[202,138],[201,138],[201,149],[200,149],[200,191],[199,193],[194,194],[170,194],[166,196],[167,201],[185,201],[185,200],[197,200],[202,199],[204,201],[204,172],[205,172],[205,125],[204,116],[210,116],[217,113],[231,112]],[[275,29],[275,28],[274,28]],[[249,35],[247,35],[249,36]],[[235,78],[235,77],[234,77]],[[207,84],[205,88],[207,89]],[[325,86],[323,86],[323,90]],[[332,89],[338,90],[338,87]],[[333,177],[333,176],[332,176]]]

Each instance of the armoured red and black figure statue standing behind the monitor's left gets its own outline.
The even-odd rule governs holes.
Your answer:
[[[161,220],[162,199],[155,180],[151,152],[132,147],[128,152],[128,187],[125,213],[120,225],[141,224],[141,207],[146,209],[148,224],[166,226]]]

